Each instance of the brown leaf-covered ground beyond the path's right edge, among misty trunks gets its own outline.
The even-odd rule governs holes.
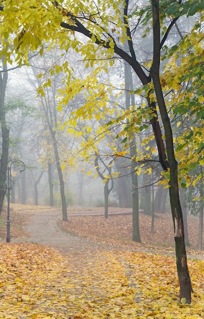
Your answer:
[[[92,214],[103,212],[104,208],[92,208]],[[103,216],[72,216],[73,211],[78,209],[70,208],[69,222],[59,220],[58,225],[67,232],[80,236],[92,238],[104,244],[123,246],[131,249],[148,250],[157,252],[169,252],[174,254],[173,222],[170,214],[156,214],[154,223],[154,233],[151,233],[151,216],[139,214],[140,237],[142,244],[132,241],[132,216],[116,215],[122,209],[110,208],[111,215],[108,219]],[[93,212],[94,211],[94,212]],[[126,209],[125,211],[130,211]],[[116,213],[114,215],[114,213]],[[187,251],[192,255],[203,255],[196,250],[197,247],[198,218],[188,217],[188,233],[190,247]],[[204,229],[203,229],[204,238]]]

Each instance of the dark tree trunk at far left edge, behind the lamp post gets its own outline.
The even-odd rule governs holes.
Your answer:
[[[0,161],[0,213],[3,208],[4,198],[7,191],[7,167],[9,157],[9,128],[6,122],[5,112],[5,92],[8,81],[7,64],[4,64],[4,58],[2,58],[3,72],[0,73],[0,124],[2,131],[2,156]]]

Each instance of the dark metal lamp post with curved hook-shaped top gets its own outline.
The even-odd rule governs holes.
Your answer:
[[[16,166],[20,166],[21,168],[18,168],[20,173],[25,170],[25,165],[22,161],[17,159],[16,161],[13,161],[9,166],[8,166],[8,206],[7,206],[7,243],[11,242],[11,235],[10,235],[10,191],[12,189],[11,187],[11,166],[17,163]]]

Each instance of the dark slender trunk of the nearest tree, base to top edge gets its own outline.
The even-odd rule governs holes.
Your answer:
[[[191,303],[191,280],[188,272],[186,246],[184,240],[184,223],[182,209],[179,198],[178,185],[178,163],[174,156],[172,130],[169,117],[166,111],[166,105],[160,84],[159,68],[160,68],[160,21],[159,21],[159,1],[152,0],[153,12],[153,36],[154,36],[154,54],[152,65],[152,77],[157,96],[159,111],[164,126],[166,151],[168,164],[170,169],[169,178],[169,197],[171,205],[171,214],[174,225],[174,240],[176,245],[177,272],[180,284],[180,301]]]

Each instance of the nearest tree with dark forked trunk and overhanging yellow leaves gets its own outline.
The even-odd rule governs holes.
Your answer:
[[[14,11],[11,10],[14,5],[15,8],[18,8],[18,17],[16,17],[13,13]],[[13,43],[13,47],[6,41],[6,45],[4,45],[4,48],[2,49],[2,55],[5,55],[8,61],[11,62],[11,51],[14,48],[16,61],[18,61],[19,64],[28,63],[26,56],[28,48],[34,50],[36,47],[41,47],[40,52],[42,54],[44,41],[48,42],[51,39],[52,41],[50,42],[50,46],[53,46],[54,42],[59,42],[61,49],[67,50],[70,46],[77,52],[80,52],[88,66],[91,65],[93,67],[99,60],[100,66],[93,71],[92,76],[88,76],[80,82],[74,77],[72,78],[73,81],[70,81],[71,73],[68,65],[63,65],[64,72],[67,76],[67,87],[64,90],[61,108],[63,108],[63,105],[68,104],[73,95],[82,91],[90,93],[93,91],[93,86],[97,86],[96,75],[99,74],[102,68],[106,69],[105,63],[107,63],[107,59],[111,66],[114,63],[113,57],[116,55],[132,67],[142,84],[142,88],[134,93],[142,94],[143,92],[145,98],[147,98],[147,105],[145,108],[141,107],[139,110],[132,111],[135,116],[134,120],[132,119],[132,122],[129,124],[129,132],[133,127],[134,130],[136,130],[136,127],[138,127],[138,129],[147,127],[147,122],[142,123],[142,119],[148,119],[152,125],[158,150],[159,162],[166,174],[166,178],[169,180],[169,197],[176,243],[177,271],[180,282],[180,300],[182,300],[182,302],[190,303],[192,287],[187,267],[183,216],[179,199],[178,163],[176,160],[176,153],[174,151],[173,132],[171,122],[169,120],[169,111],[167,110],[164,92],[161,87],[162,78],[160,77],[160,57],[161,49],[165,47],[164,43],[167,41],[169,33],[179,17],[182,15],[193,16],[197,12],[202,12],[204,6],[202,2],[197,2],[196,0],[193,1],[193,5],[190,0],[187,0],[184,3],[182,3],[182,1],[159,2],[158,0],[152,0],[151,5],[152,7],[147,6],[141,10],[138,6],[136,6],[135,10],[132,10],[129,13],[128,0],[125,2],[119,1],[117,3],[114,1],[102,1],[98,3],[97,6],[95,2],[84,3],[79,1],[77,2],[77,5],[75,2],[67,2],[64,4],[64,7],[59,5],[57,2],[50,4],[36,2],[35,7],[30,7],[30,2],[27,1],[23,3],[20,1],[14,3],[6,0],[4,2],[4,8],[1,8],[2,11],[4,10],[4,13],[0,32],[6,40],[9,38],[10,34],[14,36],[12,39],[11,37],[9,39]],[[122,9],[124,9],[123,13]],[[123,18],[121,18],[121,16]],[[149,22],[151,21],[153,24],[153,61],[150,61],[149,66],[142,65],[137,59],[137,51],[133,41],[136,27],[131,29],[130,24],[134,18],[137,18],[136,27],[139,24],[142,26],[147,25],[147,30],[144,32],[144,36],[147,36],[148,31],[150,30]],[[50,21],[52,21],[52,23],[50,23]],[[163,24],[164,21],[165,25]],[[167,28],[166,24],[168,25]],[[196,32],[198,28],[198,23],[194,24],[192,28],[194,37],[198,35],[198,38],[201,39],[203,34],[202,32]],[[58,33],[56,32],[56,29],[59,30]],[[70,33],[64,33],[63,30],[70,31]],[[162,31],[161,35],[160,31]],[[81,34],[82,36],[76,39],[75,33]],[[190,39],[191,35],[192,33],[187,35],[186,38]],[[35,40],[31,42],[30,39],[33,36],[35,36]],[[87,42],[84,39],[84,36],[88,39]],[[121,43],[124,43],[125,39],[128,40],[129,52],[121,48]],[[84,45],[82,45],[82,41],[84,41]],[[174,45],[168,49],[168,46],[166,45],[166,55],[162,58],[170,59],[174,52],[176,52],[179,48],[182,51],[182,46],[187,43],[185,41],[181,43],[181,47],[179,45]],[[201,47],[199,48],[203,51]],[[196,50],[198,52],[197,48]],[[186,53],[187,52],[185,52],[185,54]],[[103,59],[105,62],[102,61]],[[193,64],[191,64],[191,67],[192,65]],[[189,69],[190,66],[188,65],[188,70]],[[178,76],[178,79],[181,83],[181,81],[183,82],[186,78],[182,79],[181,76],[180,78]],[[80,117],[91,117],[94,112],[98,110],[99,99],[103,99],[104,103],[106,103],[106,92],[104,92],[105,87],[105,85],[100,84],[100,86],[98,85],[97,94],[90,94],[90,98],[86,100],[86,103],[83,105],[81,110],[76,111],[75,115],[77,119]],[[156,94],[156,98],[154,92]],[[200,107],[203,99],[201,98],[200,91],[198,91],[197,94],[198,93],[198,102],[200,103]],[[98,101],[98,104],[96,100]],[[173,111],[176,112],[176,107],[173,108]],[[117,119],[118,122],[116,123],[119,123],[120,120],[124,119],[127,114],[128,112],[125,112],[122,116],[119,116]],[[72,118],[70,123],[74,123],[75,121],[76,119]],[[113,122],[111,122],[111,124],[112,123]],[[165,136],[162,134],[163,128]],[[128,135],[127,128],[125,132],[127,132]],[[200,141],[197,141],[196,147],[203,149]]]

